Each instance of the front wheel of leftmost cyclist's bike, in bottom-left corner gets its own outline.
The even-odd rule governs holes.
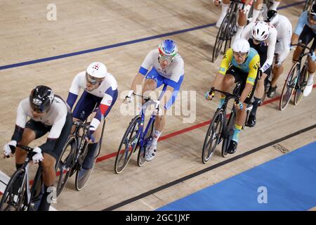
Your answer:
[[[0,211],[21,211],[26,192],[25,169],[20,168],[11,176],[0,202]]]

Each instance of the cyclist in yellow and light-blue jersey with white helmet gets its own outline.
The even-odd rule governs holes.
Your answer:
[[[235,153],[237,149],[239,133],[246,120],[246,105],[251,103],[251,98],[254,95],[259,66],[260,56],[257,51],[250,48],[249,42],[246,39],[236,39],[232,44],[232,49],[228,49],[225,52],[218,74],[213,81],[211,91],[205,94],[206,100],[212,100],[214,96],[213,89],[229,91],[233,84],[241,82],[240,100],[238,103],[235,103],[237,116],[234,134],[228,146],[228,153],[230,154]],[[218,108],[222,107],[224,101],[225,96],[221,95]]]

